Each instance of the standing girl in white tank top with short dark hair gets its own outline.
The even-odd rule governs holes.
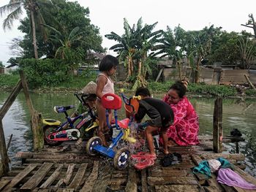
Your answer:
[[[106,93],[115,93],[114,91],[114,83],[110,79],[110,76],[116,72],[116,66],[118,65],[118,59],[113,57],[112,55],[105,55],[102,58],[102,61],[99,64],[99,71],[101,72],[97,78],[97,101],[96,108],[97,114],[99,118],[99,131],[98,136],[102,139],[102,145],[108,146],[104,134],[106,131],[109,131],[107,126],[106,116],[105,116],[105,108],[102,106],[101,98]],[[112,115],[110,112],[109,121],[112,119]]]

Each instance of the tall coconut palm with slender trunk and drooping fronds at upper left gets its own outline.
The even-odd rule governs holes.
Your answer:
[[[10,0],[9,4],[6,4],[0,7],[1,17],[4,13],[9,13],[7,18],[4,19],[3,28],[12,28],[14,20],[18,20],[23,14],[22,8],[26,9],[29,19],[31,21],[31,31],[33,37],[33,46],[34,46],[34,58],[38,58],[37,53],[37,38],[36,38],[36,26],[44,23],[42,18],[41,10],[52,6],[50,0]],[[37,23],[36,21],[37,20]]]

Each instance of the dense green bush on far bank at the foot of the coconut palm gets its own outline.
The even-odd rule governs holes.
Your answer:
[[[20,69],[23,69],[29,85],[34,88],[57,85],[68,81],[71,76],[68,74],[67,64],[58,59],[22,59]]]

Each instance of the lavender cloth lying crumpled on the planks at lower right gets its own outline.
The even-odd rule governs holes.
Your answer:
[[[246,180],[244,180],[236,172],[233,172],[233,170],[230,168],[219,169],[217,181],[219,183],[232,186],[232,187],[238,187],[238,188],[244,188],[244,189],[256,189],[256,185],[246,182]]]

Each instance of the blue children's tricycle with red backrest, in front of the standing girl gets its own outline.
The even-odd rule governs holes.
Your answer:
[[[124,103],[132,107],[132,110],[134,111],[135,109],[131,104],[131,100],[140,99],[140,96],[127,98],[124,96],[124,93],[121,93],[121,96],[124,100]],[[89,155],[96,155],[97,153],[101,153],[102,155],[113,159],[113,165],[116,169],[125,169],[129,162],[129,149],[127,147],[122,147],[121,149],[114,150],[114,148],[118,145],[118,142],[121,139],[127,142],[136,142],[136,139],[129,137],[129,125],[132,123],[134,115],[132,115],[130,118],[125,118],[124,120],[119,121],[117,110],[121,109],[121,98],[112,93],[107,93],[102,96],[102,106],[106,109],[108,128],[116,128],[116,130],[119,131],[118,135],[116,138],[112,139],[112,143],[109,147],[102,146],[102,139],[100,139],[100,137],[92,137],[86,144],[86,152]],[[109,110],[114,110],[115,116],[114,122],[111,123],[108,120]]]

